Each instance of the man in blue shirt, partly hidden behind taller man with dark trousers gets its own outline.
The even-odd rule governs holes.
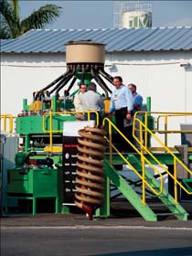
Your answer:
[[[141,111],[142,109],[142,104],[143,104],[143,97],[136,92],[136,85],[133,83],[128,84],[127,86],[130,91],[132,91],[133,94],[133,114],[134,112]],[[136,118],[141,119],[142,114],[137,114]],[[135,135],[136,137],[140,140],[140,133],[139,133],[139,123],[135,123]],[[140,145],[136,142],[133,141],[133,122],[130,123],[129,126],[127,126],[127,132],[130,134],[130,141],[137,147],[140,148]]]

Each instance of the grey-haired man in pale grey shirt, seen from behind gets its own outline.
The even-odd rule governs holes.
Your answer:
[[[96,124],[101,124],[101,112],[104,109],[104,102],[101,96],[97,93],[97,86],[94,82],[88,86],[88,91],[81,96],[81,105],[83,111],[97,111],[99,113],[99,123],[95,113],[91,113],[91,120],[95,120]],[[88,115],[85,114],[85,119]]]

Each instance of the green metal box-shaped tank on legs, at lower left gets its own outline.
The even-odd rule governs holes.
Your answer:
[[[32,200],[32,215],[37,213],[37,198],[54,198],[55,213],[59,213],[61,204],[61,172],[59,169],[9,169],[5,200],[5,214],[9,214],[10,198]]]

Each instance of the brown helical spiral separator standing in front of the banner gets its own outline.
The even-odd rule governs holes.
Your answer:
[[[76,170],[77,207],[82,208],[88,219],[92,219],[96,208],[102,206],[104,190],[103,158],[105,152],[105,131],[96,127],[79,130],[78,169]]]

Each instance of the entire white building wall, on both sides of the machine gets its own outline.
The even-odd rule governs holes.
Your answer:
[[[180,67],[186,59],[190,66]],[[133,82],[138,92],[152,97],[154,112],[192,112],[192,51],[113,52],[106,55],[105,70]],[[33,91],[45,87],[66,70],[65,55],[2,54],[1,112],[16,115],[22,102],[32,101]],[[112,89],[112,85],[107,82]],[[192,123],[191,117],[178,123]],[[175,125],[175,123],[174,123]]]

